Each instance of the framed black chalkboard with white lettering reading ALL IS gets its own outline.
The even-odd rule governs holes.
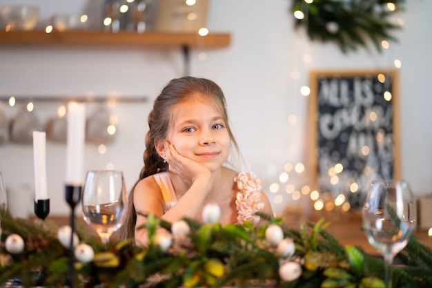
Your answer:
[[[400,179],[397,71],[313,71],[308,143],[318,191],[362,205],[373,180]]]

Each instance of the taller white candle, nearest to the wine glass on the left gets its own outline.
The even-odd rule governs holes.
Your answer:
[[[66,144],[66,184],[83,184],[84,141],[86,135],[86,105],[68,103],[68,141]]]

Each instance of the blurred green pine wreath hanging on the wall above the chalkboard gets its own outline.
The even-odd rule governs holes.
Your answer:
[[[343,52],[368,48],[378,51],[382,40],[396,41],[391,34],[400,23],[391,17],[403,10],[404,0],[293,0],[295,27],[306,29],[311,41],[335,42]]]

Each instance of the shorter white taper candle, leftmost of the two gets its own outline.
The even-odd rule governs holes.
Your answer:
[[[35,161],[35,201],[48,199],[46,187],[46,133],[33,131],[33,159]]]

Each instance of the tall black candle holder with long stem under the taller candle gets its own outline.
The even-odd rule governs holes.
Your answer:
[[[66,184],[66,202],[70,207],[70,245],[69,245],[69,261],[68,261],[68,286],[74,287],[74,246],[73,239],[75,233],[75,207],[81,200],[81,186],[73,186]]]

